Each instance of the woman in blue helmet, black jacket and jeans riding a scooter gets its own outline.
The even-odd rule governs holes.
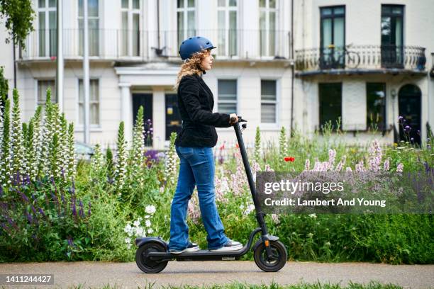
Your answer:
[[[211,50],[216,48],[203,37],[189,38],[182,42],[179,54],[184,61],[179,70],[175,89],[182,118],[182,130],[175,147],[180,159],[177,189],[170,211],[169,251],[172,254],[199,251],[199,246],[189,241],[187,208],[197,187],[201,219],[208,236],[210,251],[234,251],[243,248],[224,233],[218,215],[215,191],[215,164],[213,150],[217,143],[216,128],[228,128],[238,122],[235,113],[213,113],[214,99],[202,75],[213,64]]]

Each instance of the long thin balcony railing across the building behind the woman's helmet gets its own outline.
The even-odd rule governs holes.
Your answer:
[[[91,60],[145,62],[164,57],[179,60],[180,41],[202,35],[213,41],[219,60],[289,60],[289,33],[282,30],[171,30],[143,31],[89,29]],[[26,38],[26,50],[20,50],[23,61],[50,60],[57,53],[57,31],[35,30]],[[82,59],[83,30],[64,29],[65,59]]]

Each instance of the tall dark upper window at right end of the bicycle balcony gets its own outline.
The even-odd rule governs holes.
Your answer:
[[[382,5],[382,67],[402,68],[404,6]]]

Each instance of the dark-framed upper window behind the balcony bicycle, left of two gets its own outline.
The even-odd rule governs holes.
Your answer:
[[[345,6],[321,9],[321,69],[340,68],[345,65]]]

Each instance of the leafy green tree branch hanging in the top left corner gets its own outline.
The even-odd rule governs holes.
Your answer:
[[[9,31],[9,38],[15,44],[25,48],[25,40],[31,31],[33,31],[33,19],[35,11],[32,9],[31,0],[0,0],[0,18],[6,18],[6,29]]]

